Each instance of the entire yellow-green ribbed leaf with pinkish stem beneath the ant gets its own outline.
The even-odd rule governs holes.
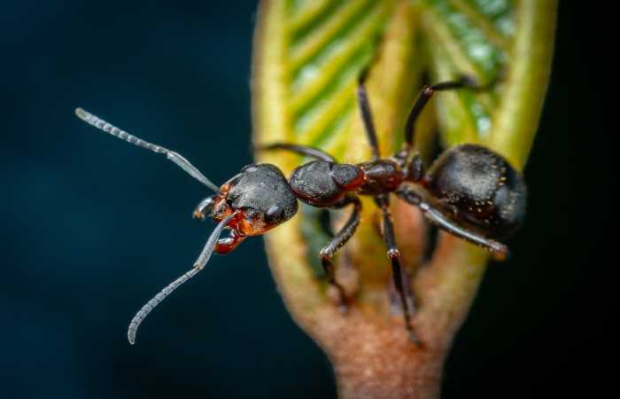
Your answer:
[[[439,131],[446,147],[486,145],[521,169],[546,92],[556,6],[555,0],[264,1],[252,72],[254,141],[313,145],[340,161],[368,160],[355,98],[357,77],[368,67],[381,153],[390,156],[402,143],[423,78],[440,82],[466,74],[489,89],[439,93],[418,122],[416,147],[429,153]],[[285,173],[303,162],[288,153],[257,157]],[[422,217],[415,208],[393,202],[397,239],[421,303],[414,322],[423,350],[412,350],[398,309],[394,315],[388,299],[391,270],[371,200],[363,201],[360,228],[337,261],[337,278],[353,296],[346,316],[316,278],[318,250],[327,241],[316,212],[303,210],[266,237],[285,303],[334,363],[344,396],[417,397],[398,389],[391,395],[373,391],[381,387],[351,371],[381,373],[374,369],[376,356],[390,356],[402,367],[385,377],[386,387],[413,383],[416,375],[426,378],[419,377],[420,384],[435,381],[428,378],[429,364],[440,375],[443,356],[484,275],[484,251],[447,235],[441,235],[422,268]],[[382,348],[381,355],[363,355],[368,345]]]

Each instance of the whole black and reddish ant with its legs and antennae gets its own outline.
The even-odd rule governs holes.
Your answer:
[[[403,286],[400,253],[390,212],[390,193],[419,207],[439,229],[486,248],[497,259],[507,257],[508,247],[497,240],[508,239],[523,223],[526,187],[521,174],[500,154],[482,145],[455,145],[442,153],[428,170],[424,169],[420,154],[413,148],[415,121],[434,93],[480,88],[466,77],[425,86],[408,115],[403,148],[391,158],[381,158],[364,86],[366,75],[366,72],[360,74],[356,95],[372,150],[371,160],[351,165],[338,163],[329,153],[305,145],[274,143],[260,147],[264,151],[283,150],[314,159],[295,168],[288,181],[280,168],[263,163],[245,166],[218,187],[179,153],[132,136],[81,108],[75,110],[81,120],[112,136],[165,154],[168,160],[215,192],[198,204],[193,216],[201,221],[211,217],[218,222],[217,227],[207,239],[194,267],[136,313],[128,328],[129,343],[136,342],[136,332],[144,317],[167,295],[202,270],[213,252],[228,254],[247,237],[263,234],[291,219],[297,213],[298,200],[313,207],[353,207],[345,225],[319,253],[325,276],[329,284],[337,288],[341,310],[345,311],[345,289],[335,278],[331,259],[351,239],[360,223],[359,196],[374,199],[382,211],[382,230],[387,256],[391,260],[393,283],[399,293],[407,332],[415,343],[419,342],[411,325],[413,309],[409,309],[407,290]],[[229,230],[229,236],[220,239],[225,229]]]

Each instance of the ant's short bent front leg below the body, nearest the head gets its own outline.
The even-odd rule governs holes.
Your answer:
[[[353,204],[353,213],[349,217],[349,220],[346,221],[342,229],[336,233],[336,236],[334,236],[334,238],[331,239],[326,246],[323,246],[321,252],[319,252],[323,270],[325,271],[325,277],[327,278],[328,283],[335,286],[338,290],[338,295],[340,297],[340,310],[342,312],[345,312],[346,310],[345,288],[336,281],[334,263],[331,262],[331,258],[334,254],[336,254],[336,251],[340,249],[341,246],[345,245],[346,241],[351,239],[355,229],[357,229],[358,224],[360,224],[361,202],[359,198],[350,195],[334,206],[338,208],[345,207],[349,204]]]

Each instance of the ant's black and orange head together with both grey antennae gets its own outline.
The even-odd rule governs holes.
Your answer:
[[[205,216],[208,215],[218,222],[217,226],[207,239],[205,247],[194,263],[194,267],[167,285],[136,313],[128,329],[128,340],[131,344],[136,341],[136,333],[144,317],[147,317],[151,310],[176,288],[196,276],[198,271],[202,270],[209,262],[213,252],[225,254],[235,248],[245,236],[261,234],[290,219],[297,212],[297,199],[291,191],[291,187],[289,187],[280,169],[273,165],[246,166],[241,169],[238,175],[218,187],[200,173],[198,168],[194,167],[189,160],[183,158],[180,153],[144,141],[142,138],[133,136],[81,108],[77,108],[75,114],[82,121],[114,137],[153,153],[165,154],[168,160],[173,161],[198,182],[216,192],[215,195],[207,197],[198,204],[194,211],[194,217],[205,219]],[[230,236],[221,239],[221,233],[226,228],[231,230]]]

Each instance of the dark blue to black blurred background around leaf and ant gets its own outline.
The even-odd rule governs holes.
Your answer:
[[[572,3],[561,4],[525,172],[527,224],[512,259],[484,278],[445,398],[592,395],[605,380],[611,145],[593,116],[603,98],[587,62],[590,18]],[[128,321],[190,268],[213,228],[190,218],[208,192],[74,116],[83,106],[224,181],[252,161],[255,9],[4,2],[1,398],[336,397],[328,360],[283,308],[261,239],[215,258],[128,345]]]

